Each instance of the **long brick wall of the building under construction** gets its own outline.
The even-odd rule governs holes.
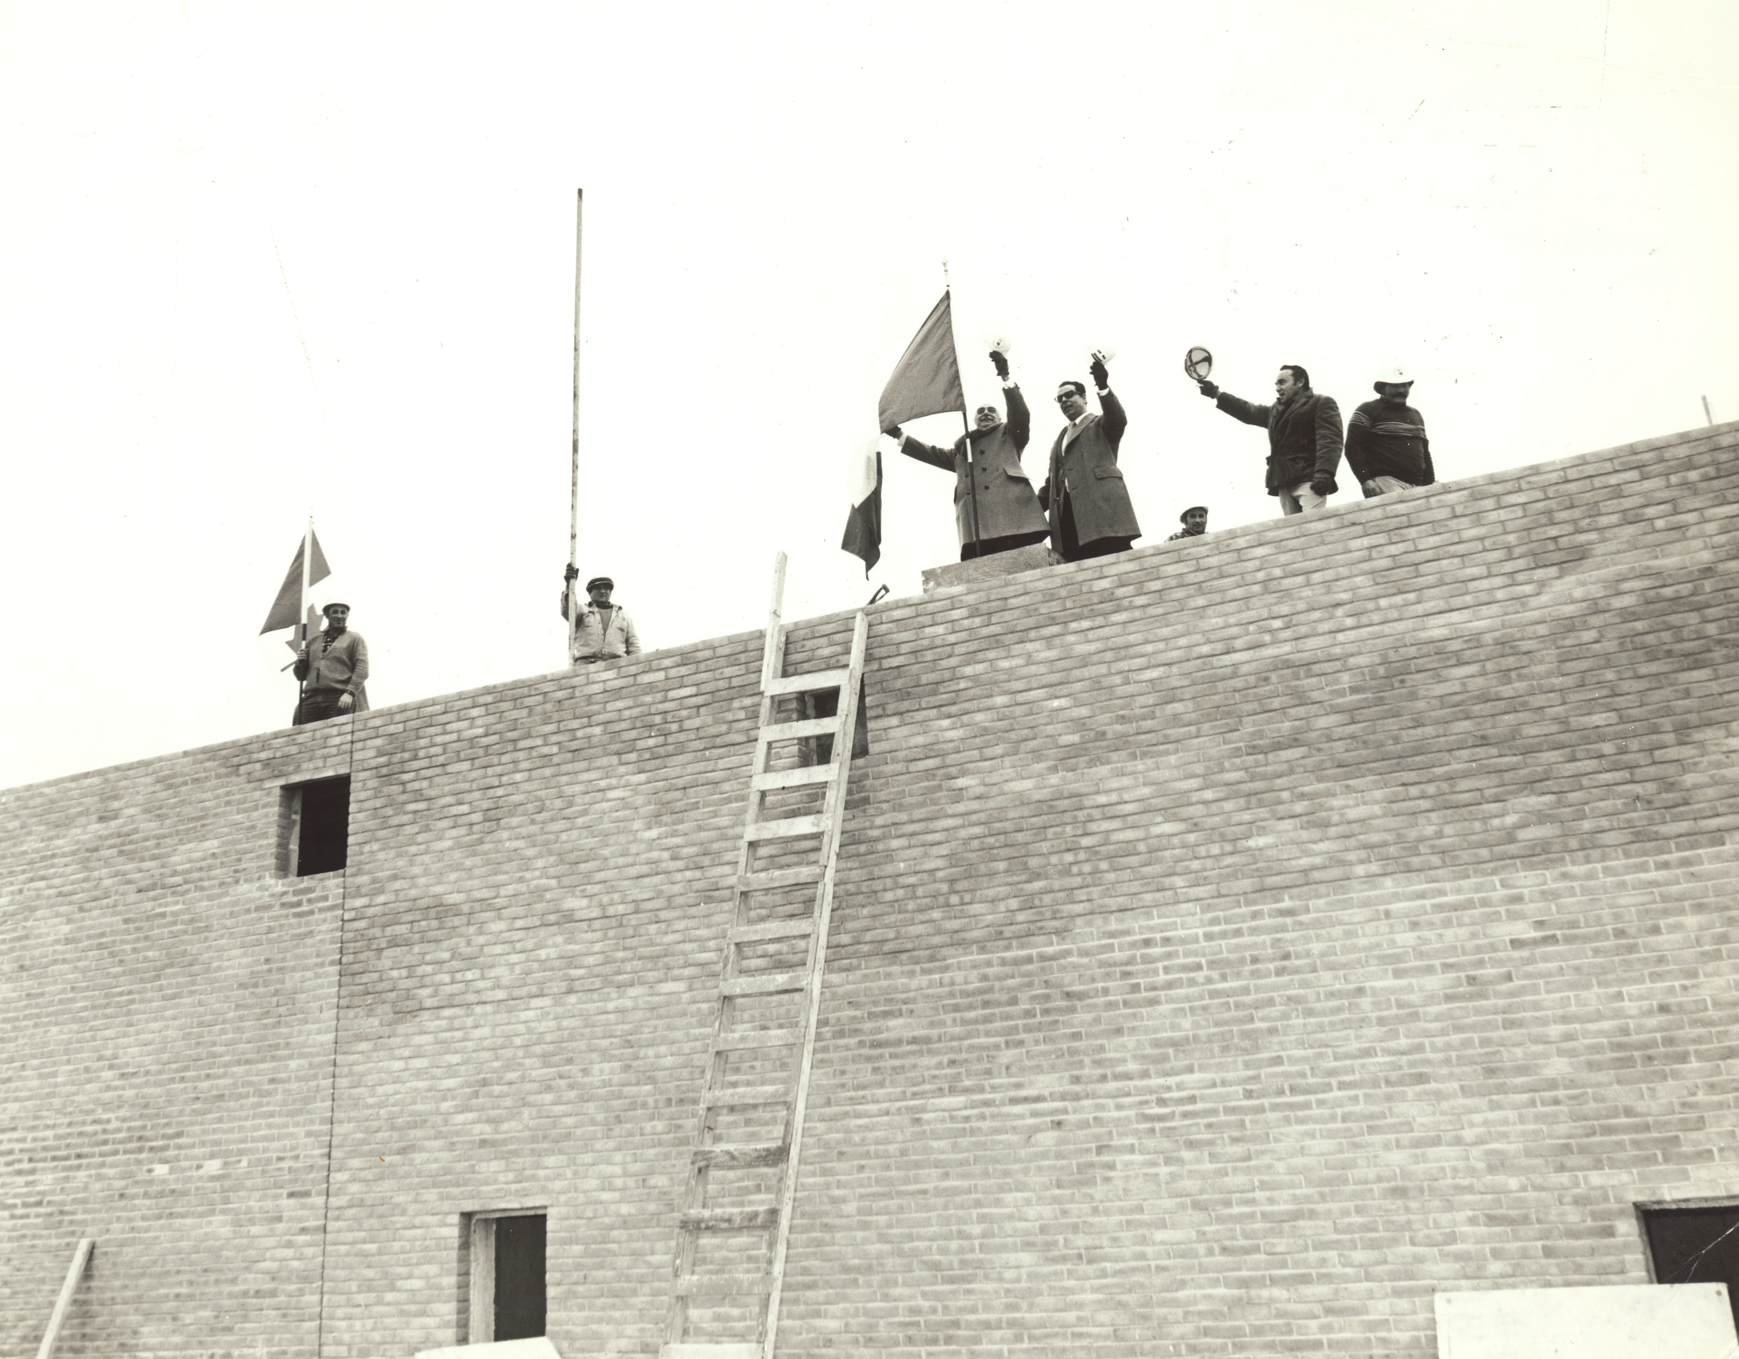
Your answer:
[[[1739,1196],[1736,447],[878,605],[781,1352],[1423,1359]],[[758,648],[0,794],[0,1338],[94,1234],[63,1354],[409,1356],[537,1206],[562,1352],[656,1354]]]

